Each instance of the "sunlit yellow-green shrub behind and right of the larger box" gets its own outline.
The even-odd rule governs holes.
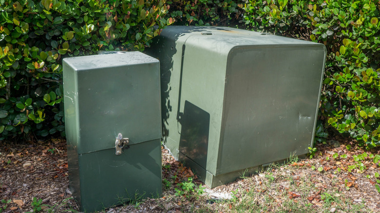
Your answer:
[[[368,148],[380,145],[379,0],[255,0],[258,31],[321,42],[328,50],[320,119]]]

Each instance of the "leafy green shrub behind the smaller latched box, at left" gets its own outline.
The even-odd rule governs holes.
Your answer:
[[[141,51],[173,22],[168,9],[164,0],[0,0],[0,140],[64,135],[62,58]]]

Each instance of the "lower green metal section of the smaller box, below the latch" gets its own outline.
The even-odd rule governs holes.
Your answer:
[[[162,194],[160,139],[133,144],[119,156],[115,149],[77,155],[71,148],[68,159],[70,190],[81,211]]]

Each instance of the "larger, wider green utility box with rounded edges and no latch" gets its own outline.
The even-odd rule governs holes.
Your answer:
[[[160,60],[164,143],[209,187],[313,145],[323,44],[170,26],[147,53]]]

